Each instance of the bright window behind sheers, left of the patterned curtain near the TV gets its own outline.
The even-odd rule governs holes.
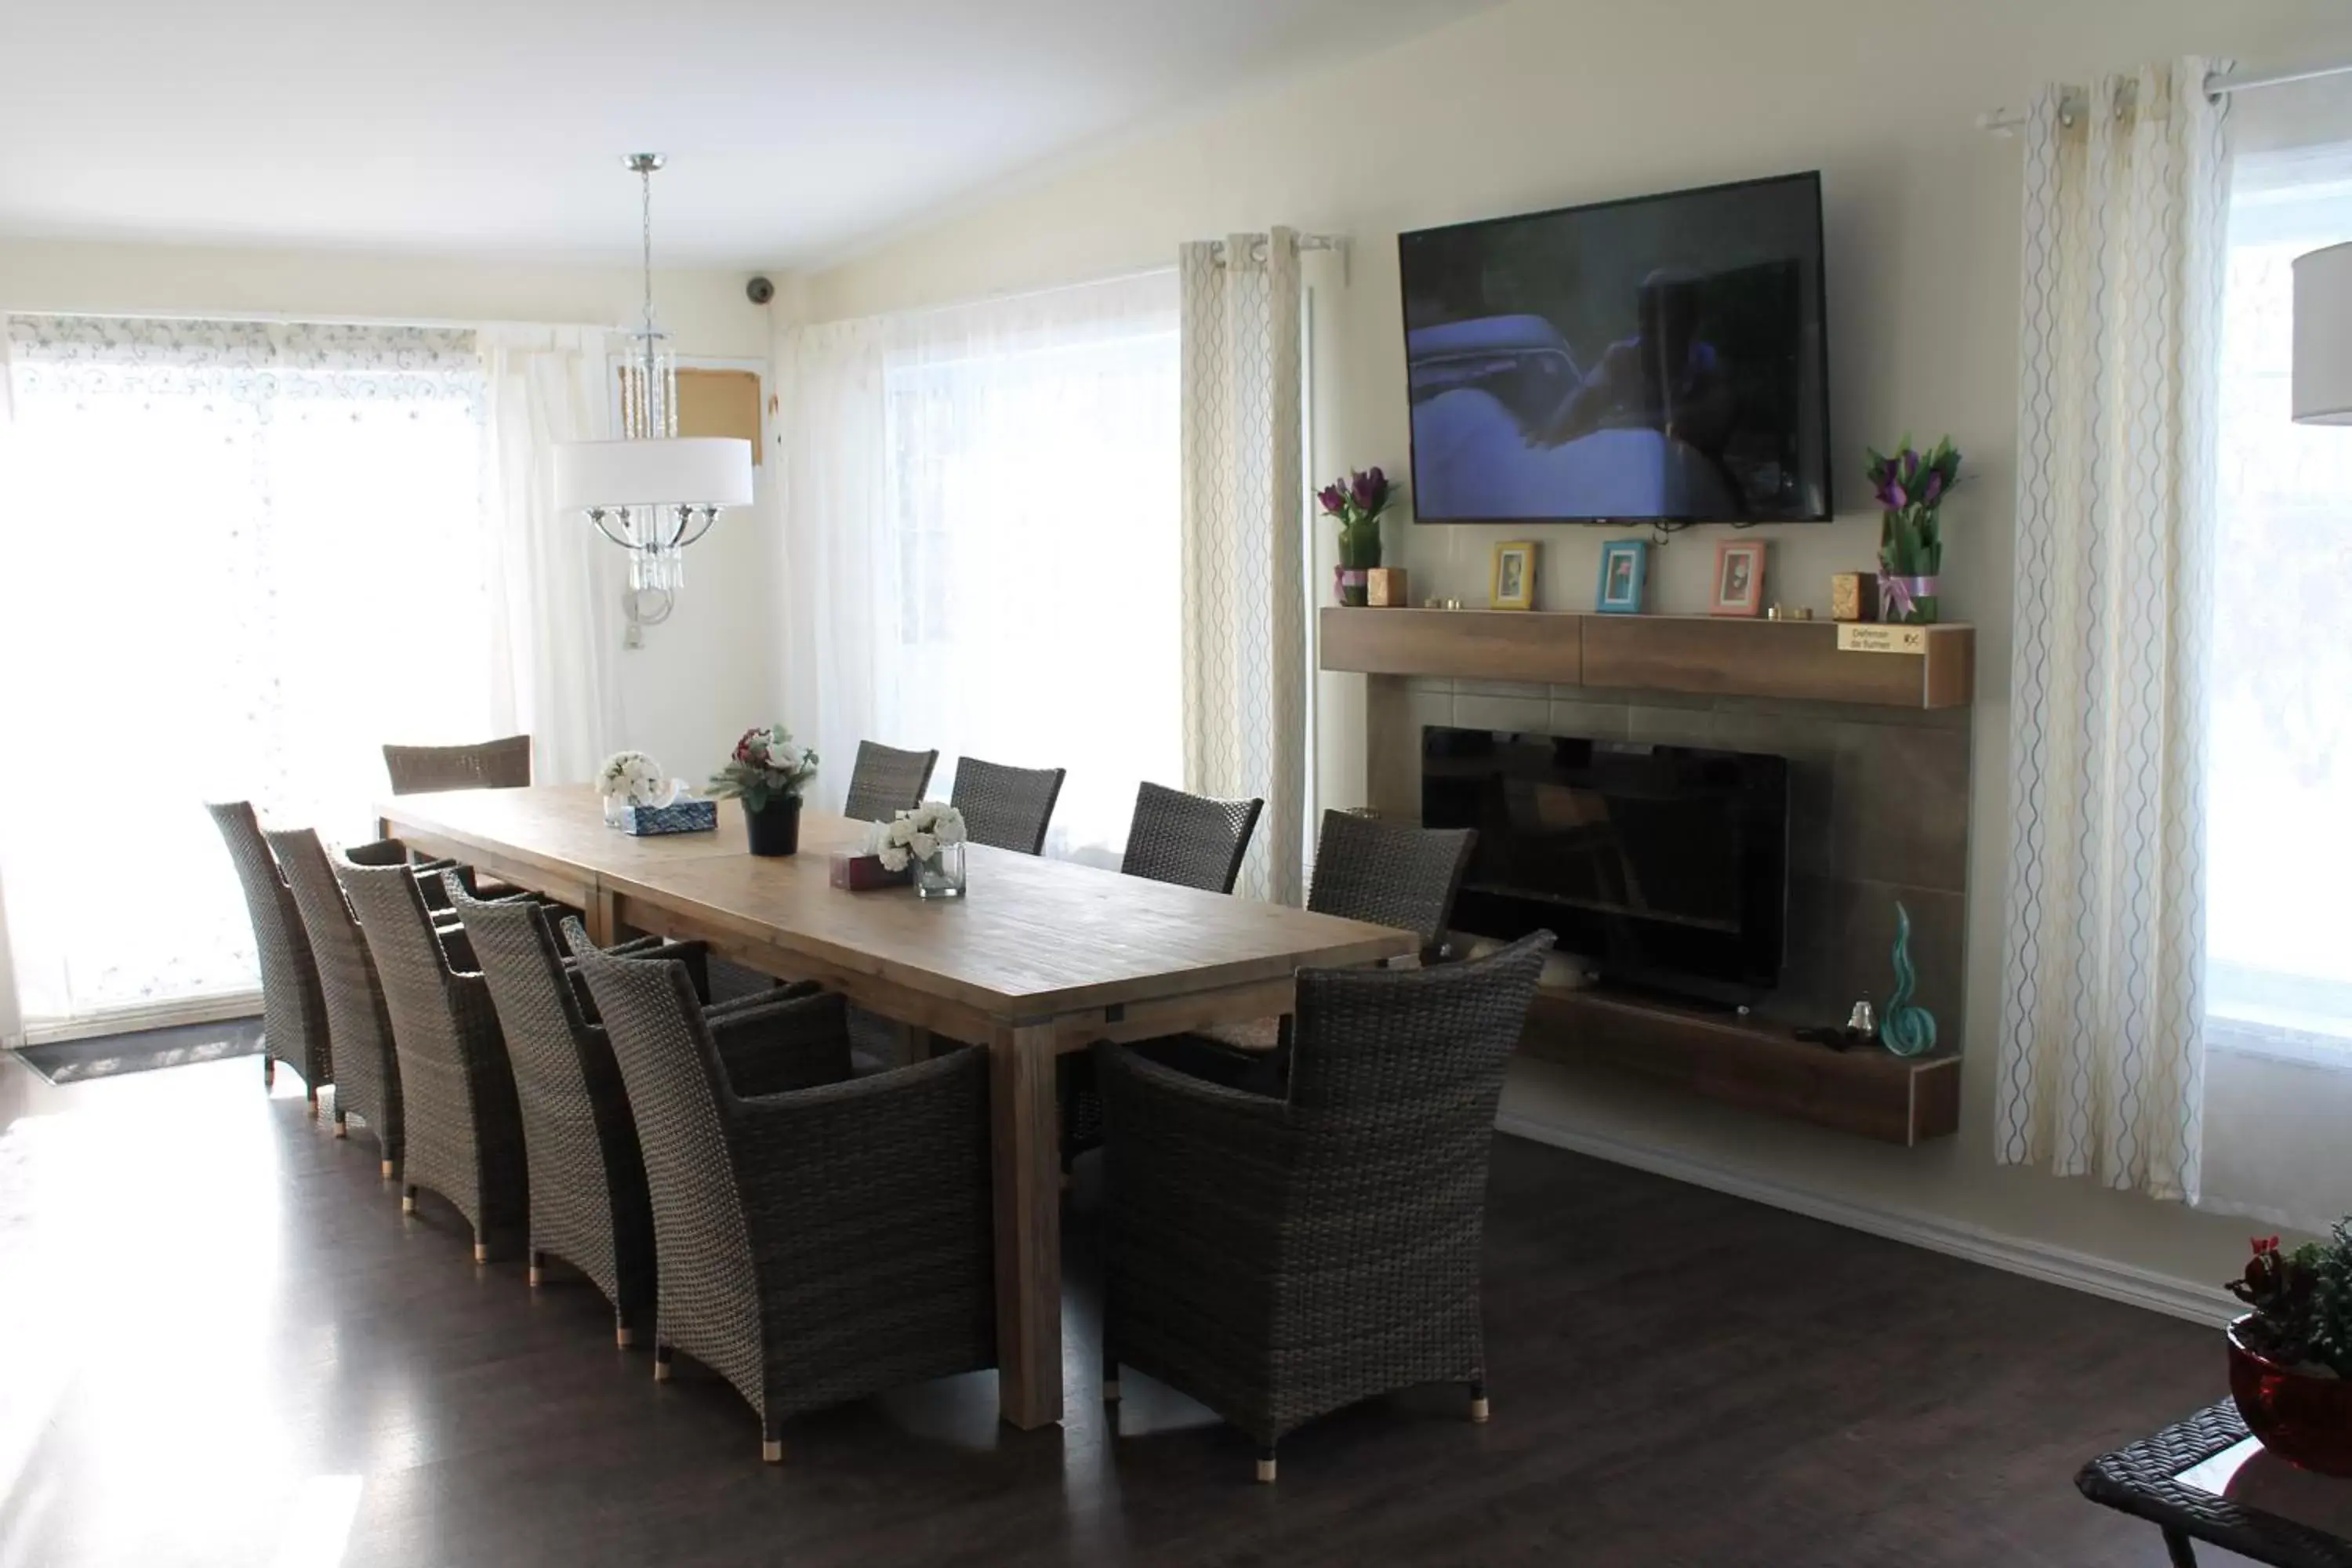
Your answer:
[[[884,369],[875,698],[941,795],[967,752],[1068,769],[1047,849],[1115,863],[1136,783],[1183,783],[1176,310],[1070,294],[1148,303],[976,308]]]

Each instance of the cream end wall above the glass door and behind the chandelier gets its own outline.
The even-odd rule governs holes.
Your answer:
[[[680,355],[767,364],[769,320],[743,299],[743,273],[715,270],[656,275],[661,322]],[[0,237],[0,313],[619,327],[635,322],[640,303],[642,275],[626,266]],[[691,780],[717,769],[736,733],[774,719],[767,473],[762,503],[722,517],[689,552],[673,618],[616,665],[623,743]],[[386,555],[397,559],[395,541]]]

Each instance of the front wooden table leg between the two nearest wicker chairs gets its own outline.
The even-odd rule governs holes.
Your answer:
[[[997,1201],[997,1415],[1061,1420],[1061,1159],[1054,1027],[997,1025],[988,1039]]]

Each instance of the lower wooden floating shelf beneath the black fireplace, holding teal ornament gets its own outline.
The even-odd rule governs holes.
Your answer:
[[[1959,1131],[1959,1056],[1830,1051],[1788,1025],[1599,990],[1543,990],[1519,1041],[1526,1056],[1604,1063],[1708,1100],[1917,1145]]]

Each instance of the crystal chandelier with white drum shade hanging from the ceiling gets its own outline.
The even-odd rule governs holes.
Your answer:
[[[677,435],[677,360],[654,320],[654,169],[661,153],[630,153],[644,216],[644,320],[619,364],[619,440],[555,447],[555,505],[588,512],[628,550],[630,630],[668,621],[684,585],[684,552],[722,508],[750,505],[750,442]]]

